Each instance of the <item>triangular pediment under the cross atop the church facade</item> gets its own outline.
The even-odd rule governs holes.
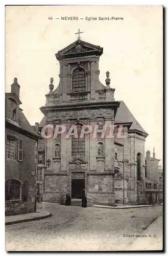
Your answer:
[[[73,42],[73,44],[70,44],[69,46],[65,47],[64,49],[60,50],[58,53],[56,53],[56,57],[58,60],[62,59],[63,57],[67,56],[67,58],[70,57],[70,55],[81,53],[93,53],[101,55],[103,53],[103,48],[100,46],[95,46],[92,44],[89,44],[89,42],[82,41],[80,39]]]

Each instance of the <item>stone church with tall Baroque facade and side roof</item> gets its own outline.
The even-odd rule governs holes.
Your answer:
[[[41,140],[45,152],[43,201],[60,202],[86,195],[96,204],[146,202],[145,140],[147,132],[123,101],[114,99],[109,72],[105,84],[99,80],[99,60],[103,48],[79,39],[56,53],[59,84],[53,78],[39,131],[48,124],[97,126],[97,136],[63,134]],[[121,129],[121,135],[102,136],[104,125]],[[44,129],[45,130],[45,129]],[[45,131],[46,132],[46,131]],[[40,148],[40,147],[39,147]]]

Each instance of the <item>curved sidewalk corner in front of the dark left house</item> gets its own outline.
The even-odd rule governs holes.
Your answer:
[[[37,209],[37,212],[32,212],[31,214],[19,214],[19,215],[13,215],[13,216],[6,216],[5,225],[11,225],[11,224],[28,222],[28,221],[37,221],[37,220],[42,220],[49,217],[52,217],[52,214],[50,214],[50,212]]]

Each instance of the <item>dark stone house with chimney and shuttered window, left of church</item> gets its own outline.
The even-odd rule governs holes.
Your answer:
[[[39,135],[20,108],[17,78],[5,94],[5,211],[6,215],[35,211],[36,150]]]

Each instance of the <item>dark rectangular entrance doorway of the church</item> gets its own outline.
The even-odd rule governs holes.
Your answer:
[[[81,199],[84,195],[85,179],[71,180],[71,198]]]

